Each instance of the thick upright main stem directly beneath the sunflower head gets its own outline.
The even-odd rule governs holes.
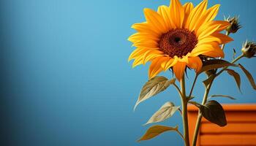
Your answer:
[[[186,146],[189,146],[189,125],[187,118],[187,97],[186,97],[186,88],[185,88],[185,77],[181,78],[181,101],[182,101],[182,120],[183,120],[183,129],[184,129],[184,143]]]

